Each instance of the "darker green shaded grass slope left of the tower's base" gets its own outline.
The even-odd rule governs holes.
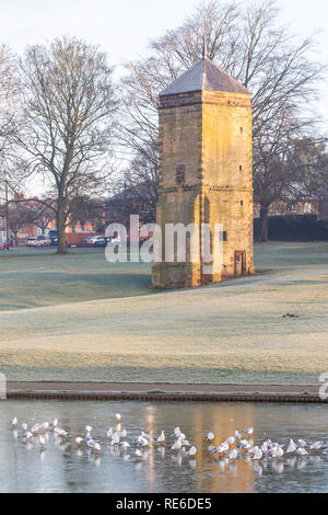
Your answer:
[[[110,265],[104,250],[17,249],[0,253],[0,311],[149,295],[150,266]]]

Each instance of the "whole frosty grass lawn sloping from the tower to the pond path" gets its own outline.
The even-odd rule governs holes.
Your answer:
[[[11,380],[317,384],[328,373],[328,243],[256,245],[258,275],[155,293],[102,250],[0,254]],[[285,319],[292,312],[300,318]]]

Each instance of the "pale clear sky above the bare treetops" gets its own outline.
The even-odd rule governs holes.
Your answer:
[[[22,53],[26,44],[70,34],[98,44],[108,53],[110,64],[119,66],[144,56],[149,39],[177,26],[197,3],[197,0],[0,0],[0,41]],[[320,54],[328,61],[327,0],[280,0],[280,4],[282,23],[290,23],[295,34],[321,31]],[[328,131],[327,84],[321,92],[319,111]]]

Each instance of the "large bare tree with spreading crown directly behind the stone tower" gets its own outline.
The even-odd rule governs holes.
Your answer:
[[[181,26],[151,42],[149,58],[128,64],[122,81],[120,138],[125,151],[128,148],[148,161],[150,173],[154,160],[149,149],[159,142],[157,95],[199,60],[206,37],[209,58],[253,92],[254,186],[261,205],[263,239],[267,208],[283,190],[282,178],[284,184],[294,180],[282,175],[282,170],[274,173],[277,195],[270,195],[271,164],[281,160],[289,141],[307,134],[311,114],[304,105],[308,107],[316,98],[325,70],[313,57],[314,36],[297,41],[289,26],[281,25],[279,12],[276,0],[245,7],[234,1],[201,2]],[[138,175],[132,160],[130,170]]]

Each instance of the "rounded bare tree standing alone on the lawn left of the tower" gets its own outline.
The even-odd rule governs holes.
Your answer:
[[[17,141],[28,173],[46,175],[58,229],[58,253],[67,253],[65,229],[77,196],[103,191],[117,107],[113,69],[97,47],[75,38],[27,48],[21,62],[24,88]]]

